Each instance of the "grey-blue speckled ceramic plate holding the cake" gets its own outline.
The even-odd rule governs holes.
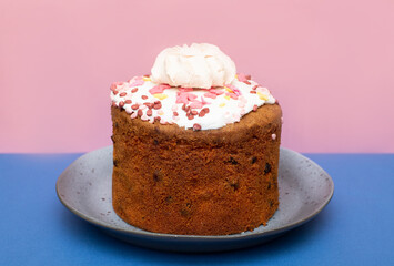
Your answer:
[[[267,242],[316,216],[330,202],[334,184],[307,157],[281,149],[280,206],[267,226],[221,236],[170,235],[147,232],[124,223],[112,208],[112,146],[87,153],[59,176],[60,201],[79,217],[134,245],[172,252],[220,252]]]

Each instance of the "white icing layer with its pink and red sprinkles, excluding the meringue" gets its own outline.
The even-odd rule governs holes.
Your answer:
[[[234,75],[231,83],[204,89],[174,88],[152,81],[152,76],[134,76],[111,85],[112,105],[125,110],[131,119],[184,129],[214,130],[274,104],[271,92],[250,76]]]

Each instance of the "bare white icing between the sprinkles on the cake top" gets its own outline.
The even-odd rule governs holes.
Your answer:
[[[244,82],[239,81],[238,79],[234,79],[231,82],[231,85],[233,86],[233,89],[236,88],[241,93],[241,95],[238,96],[236,100],[232,98],[229,99],[225,93],[218,95],[216,99],[211,99],[203,96],[203,94],[206,93],[208,90],[194,89],[193,91],[191,91],[190,93],[195,94],[198,96],[198,101],[202,101],[201,96],[203,96],[204,100],[210,103],[204,104],[202,108],[196,108],[192,110],[200,112],[202,109],[209,108],[210,112],[206,113],[203,117],[195,115],[192,120],[189,120],[186,116],[186,112],[182,110],[183,103],[176,103],[176,93],[180,91],[180,88],[165,89],[162,94],[166,95],[166,98],[163,100],[159,100],[154,96],[156,94],[152,95],[149,92],[149,90],[153,86],[156,86],[158,83],[154,83],[150,81],[149,78],[145,78],[147,81],[144,81],[143,84],[133,85],[133,83],[135,84],[135,81],[138,80],[142,80],[142,78],[135,76],[129,82],[113,85],[114,89],[111,91],[111,100],[117,106],[120,106],[120,102],[131,100],[131,104],[124,104],[122,108],[129,114],[131,114],[132,119],[138,117],[135,115],[138,110],[132,110],[132,105],[139,103],[139,109],[142,110],[143,113],[140,119],[149,121],[151,123],[154,122],[155,116],[160,116],[161,123],[175,123],[184,129],[192,129],[194,124],[199,124],[201,125],[201,130],[214,130],[220,129],[226,124],[239,122],[244,114],[251,112],[256,106],[275,103],[275,99],[266,88],[259,86],[253,90],[253,88],[257,85],[256,82],[249,80],[250,84],[246,84]],[[138,91],[132,93],[132,90],[134,88],[138,88]],[[229,89],[222,86],[216,88],[216,90],[226,92],[226,90]],[[114,94],[114,91],[118,91],[118,93]],[[256,93],[251,93],[251,91],[256,91]],[[122,92],[125,92],[127,95],[121,96]],[[142,95],[148,96],[148,99],[143,100],[141,98]],[[152,116],[148,116],[147,112],[149,108],[143,105],[143,103],[153,103],[155,101],[161,101],[162,106],[159,110],[151,109]],[[186,105],[190,105],[190,103]],[[174,111],[178,112],[178,116],[173,115]]]

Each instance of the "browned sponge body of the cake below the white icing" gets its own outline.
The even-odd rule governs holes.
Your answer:
[[[158,233],[226,235],[266,224],[277,209],[280,105],[195,132],[132,120],[113,106],[111,114],[113,207],[127,223]]]

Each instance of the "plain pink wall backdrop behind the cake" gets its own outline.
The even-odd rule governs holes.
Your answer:
[[[394,152],[394,1],[0,2],[0,152],[111,143],[109,86],[219,45],[280,100],[283,145]]]

